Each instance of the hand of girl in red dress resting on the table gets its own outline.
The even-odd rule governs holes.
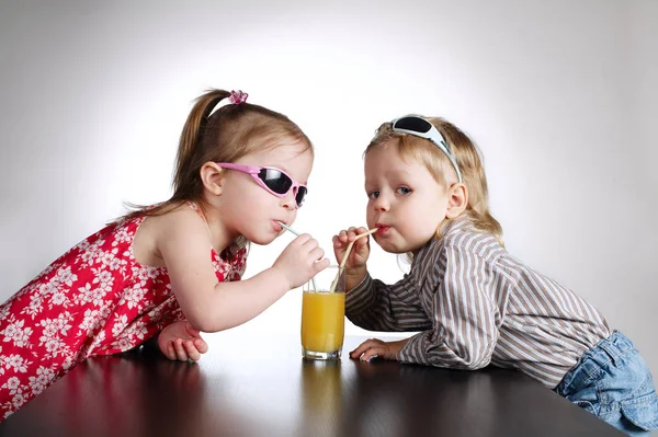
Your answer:
[[[190,322],[182,320],[164,327],[158,336],[160,352],[171,360],[198,361],[201,354],[208,350],[208,345]]]

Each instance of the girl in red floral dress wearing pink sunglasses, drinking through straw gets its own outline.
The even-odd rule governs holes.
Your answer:
[[[83,240],[0,306],[0,422],[87,357],[158,333],[168,358],[196,360],[200,331],[254,318],[329,264],[303,234],[240,280],[247,243],[269,244],[295,220],[314,159],[296,124],[246,97],[200,96],[171,198]]]

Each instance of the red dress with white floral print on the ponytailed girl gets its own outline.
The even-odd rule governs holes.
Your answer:
[[[183,318],[167,268],[135,261],[144,218],[83,240],[0,306],[0,422],[87,357],[128,350]],[[230,261],[209,252],[219,281],[240,279],[245,249]]]

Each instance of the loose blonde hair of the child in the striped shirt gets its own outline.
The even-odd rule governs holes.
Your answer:
[[[452,123],[440,117],[422,118],[430,122],[441,133],[462,172],[462,179],[468,192],[468,204],[463,214],[470,218],[474,230],[489,233],[500,244],[503,244],[502,228],[489,211],[487,175],[477,146]],[[427,139],[396,133],[393,130],[390,123],[384,123],[365,149],[364,157],[371,150],[384,145],[397,147],[397,151],[402,158],[411,158],[424,163],[436,183],[446,189],[452,182],[457,181],[457,174],[445,153]],[[435,237],[438,239],[442,238],[443,228],[445,226],[436,229]]]

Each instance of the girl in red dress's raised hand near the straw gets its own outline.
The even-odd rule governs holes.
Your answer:
[[[285,248],[272,268],[285,275],[292,290],[308,283],[318,272],[329,266],[329,260],[322,260],[322,256],[325,251],[319,248],[317,240],[303,233]]]

